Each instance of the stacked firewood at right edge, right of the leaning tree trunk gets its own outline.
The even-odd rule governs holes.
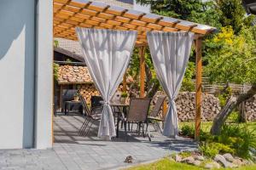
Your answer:
[[[256,95],[245,103],[247,121],[256,121]]]

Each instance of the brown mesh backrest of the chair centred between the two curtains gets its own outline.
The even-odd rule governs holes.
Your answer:
[[[148,117],[148,110],[151,99],[134,98],[130,100],[129,112],[127,115],[128,122],[145,122]]]

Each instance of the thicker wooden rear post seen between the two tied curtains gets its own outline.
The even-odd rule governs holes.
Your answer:
[[[140,97],[145,97],[145,46],[139,48],[140,56]]]

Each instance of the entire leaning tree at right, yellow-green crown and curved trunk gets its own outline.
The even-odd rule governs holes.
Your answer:
[[[235,35],[232,27],[224,27],[221,32],[212,38],[212,51],[208,51],[208,65],[205,75],[211,82],[250,82],[252,88],[247,94],[232,96],[226,105],[215,117],[213,134],[220,133],[221,127],[241,102],[250,99],[256,94],[256,27],[241,27],[239,35]]]

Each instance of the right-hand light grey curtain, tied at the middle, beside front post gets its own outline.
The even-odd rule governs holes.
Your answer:
[[[169,98],[163,134],[176,138],[178,122],[174,100],[183,82],[194,34],[191,32],[148,32],[147,37],[154,69]]]

